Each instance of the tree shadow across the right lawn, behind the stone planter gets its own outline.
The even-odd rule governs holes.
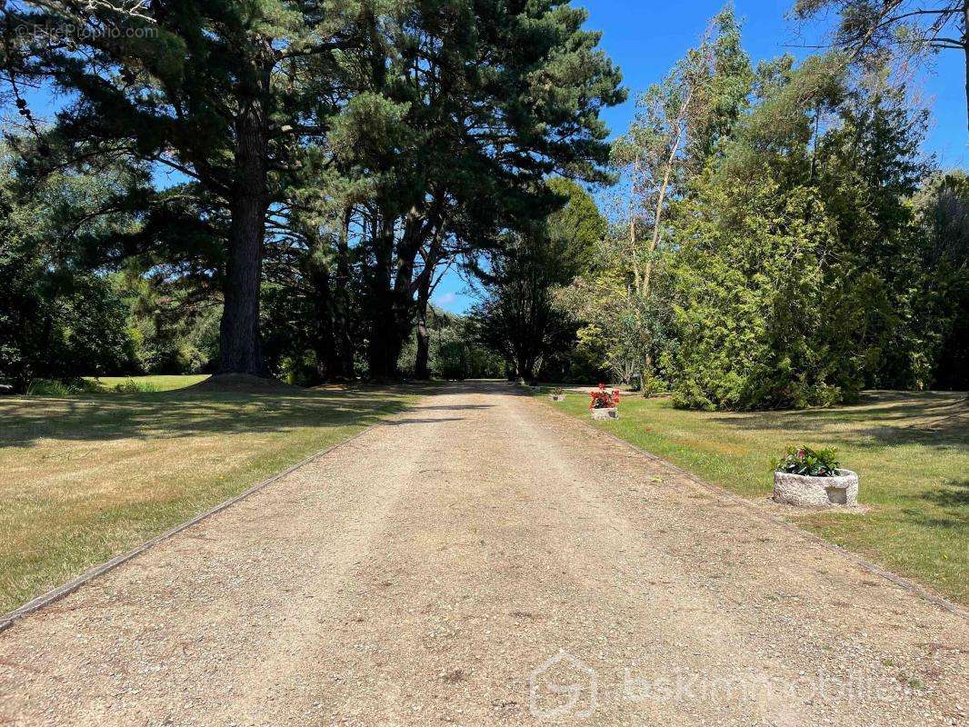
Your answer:
[[[804,411],[719,414],[726,427],[830,436],[860,448],[920,444],[969,446],[969,403],[950,392],[868,392],[847,406]]]

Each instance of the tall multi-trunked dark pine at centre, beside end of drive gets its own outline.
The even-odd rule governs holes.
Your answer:
[[[488,249],[561,201],[555,172],[609,178],[599,111],[624,98],[619,74],[563,0],[415,0],[374,19],[374,58],[337,130],[359,225],[372,375],[396,371],[416,297],[444,259]],[[342,134],[342,136],[341,136]],[[356,183],[356,182],[355,182]],[[429,262],[428,262],[429,261]]]

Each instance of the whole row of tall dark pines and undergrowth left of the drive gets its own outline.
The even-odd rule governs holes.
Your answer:
[[[487,274],[567,202],[551,175],[610,179],[599,113],[625,92],[564,0],[2,14],[0,377],[20,387],[211,356],[390,378],[416,325],[428,375],[441,271]]]

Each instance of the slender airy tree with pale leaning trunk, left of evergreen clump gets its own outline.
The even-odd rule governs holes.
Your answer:
[[[601,366],[643,394],[666,387],[657,374],[665,375],[674,345],[667,270],[672,202],[719,153],[747,107],[752,82],[738,22],[725,8],[701,43],[637,99],[628,131],[611,149],[624,176],[623,217],[600,240],[597,265],[557,297],[558,307],[583,324],[578,350],[599,349]]]

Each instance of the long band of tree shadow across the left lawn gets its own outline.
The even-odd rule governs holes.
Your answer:
[[[406,387],[286,394],[183,390],[9,399],[0,401],[0,447],[29,446],[43,438],[105,441],[370,425],[403,411],[407,396],[415,393]]]

